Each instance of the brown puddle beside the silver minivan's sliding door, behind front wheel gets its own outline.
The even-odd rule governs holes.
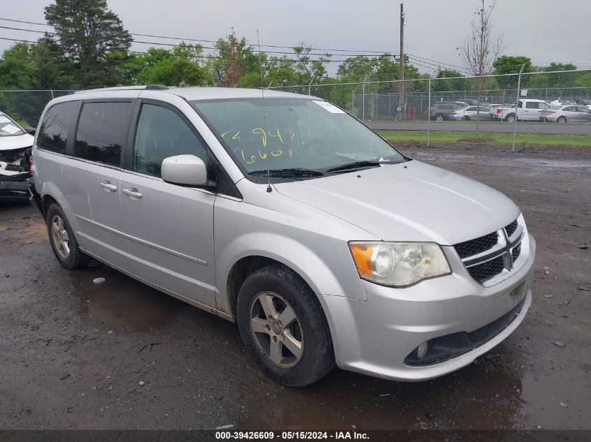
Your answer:
[[[97,277],[104,277],[106,282],[95,285],[92,280]],[[80,316],[114,329],[145,331],[162,327],[187,305],[98,263],[71,272],[71,290],[78,297]]]

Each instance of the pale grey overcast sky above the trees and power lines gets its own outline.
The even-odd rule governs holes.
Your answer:
[[[3,3],[1,18],[43,22],[43,6],[51,1]],[[319,48],[392,54],[399,52],[399,5],[396,0],[108,0],[124,27],[138,34],[216,40],[234,27],[253,45],[258,29],[262,45],[304,41]],[[429,63],[464,66],[456,48],[469,31],[476,5],[476,0],[407,0],[405,52]],[[591,68],[591,0],[499,0],[494,20],[494,30],[504,35],[505,54],[525,55],[536,65],[560,61]],[[0,25],[44,29],[1,20]],[[38,34],[0,28],[0,37],[34,40]],[[0,50],[10,44],[0,40]],[[148,47],[134,44],[134,50]],[[330,71],[335,68],[332,63]]]

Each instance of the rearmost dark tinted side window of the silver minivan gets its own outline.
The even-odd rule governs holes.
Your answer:
[[[65,154],[68,134],[76,124],[78,109],[80,109],[80,101],[53,105],[41,122],[37,147]]]

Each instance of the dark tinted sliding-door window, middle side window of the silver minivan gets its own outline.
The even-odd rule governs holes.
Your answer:
[[[76,131],[74,156],[120,165],[130,119],[131,103],[84,103]]]

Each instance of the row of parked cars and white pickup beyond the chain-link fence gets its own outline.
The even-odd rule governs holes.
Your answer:
[[[474,103],[476,100],[438,101],[429,108],[435,121],[552,121],[558,123],[591,123],[591,100],[547,103],[528,98],[513,104]]]

